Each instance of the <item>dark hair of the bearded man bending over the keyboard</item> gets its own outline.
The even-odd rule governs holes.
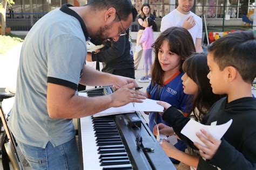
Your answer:
[[[121,20],[126,20],[130,13],[132,13],[132,20],[134,22],[137,16],[137,10],[132,6],[130,0],[90,0],[87,5],[91,6],[93,10],[114,8]],[[115,20],[119,21],[118,16],[116,16]]]

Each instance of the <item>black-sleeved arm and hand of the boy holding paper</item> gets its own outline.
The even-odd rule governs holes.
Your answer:
[[[206,138],[201,134],[197,134],[197,136],[207,147],[198,143],[194,143],[194,145],[198,147],[201,157],[207,159],[210,164],[221,169],[256,169],[256,134],[247,138],[242,144],[243,153],[241,153],[226,140],[217,140],[205,130],[201,130],[201,132]]]

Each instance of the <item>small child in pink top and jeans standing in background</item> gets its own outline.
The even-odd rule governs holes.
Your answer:
[[[144,57],[144,70],[145,76],[139,79],[139,82],[150,82],[152,67],[152,44],[154,43],[153,30],[156,29],[156,22],[151,18],[147,17],[143,23],[145,30],[143,31],[142,38],[140,38],[140,44],[143,47],[143,57]],[[153,29],[152,29],[153,28]]]

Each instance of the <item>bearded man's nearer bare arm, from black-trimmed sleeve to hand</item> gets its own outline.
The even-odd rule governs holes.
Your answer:
[[[118,89],[111,95],[83,97],[75,90],[59,84],[48,83],[47,109],[51,118],[80,118],[96,114],[110,107],[120,107],[130,102],[145,99],[133,83]],[[136,94],[135,96],[133,94]]]

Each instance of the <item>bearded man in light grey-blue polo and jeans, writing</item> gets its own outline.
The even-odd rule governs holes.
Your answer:
[[[129,0],[91,0],[80,7],[65,4],[29,31],[22,46],[9,126],[32,168],[78,169],[72,118],[145,98],[133,90],[138,87],[133,79],[85,65],[86,40],[96,45],[107,39],[117,41],[136,12]],[[77,95],[78,83],[113,85],[118,90],[86,98]]]

